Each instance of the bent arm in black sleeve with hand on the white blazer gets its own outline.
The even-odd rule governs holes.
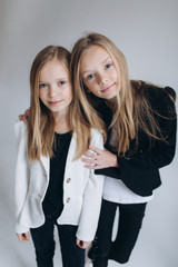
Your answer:
[[[172,91],[171,88],[168,88],[167,90]],[[117,157],[116,154],[112,154],[106,149],[100,150],[96,147],[91,147],[90,149],[95,151],[95,154],[87,151],[86,156],[88,156],[89,158],[82,158],[82,161],[88,164],[86,167],[90,169],[120,167],[122,169],[122,166],[123,166],[123,169],[128,168],[128,171],[129,171],[130,167],[136,169],[137,168],[140,168],[140,169],[157,168],[158,169],[169,165],[174,159],[175,150],[176,150],[177,118],[176,118],[175,103],[174,101],[170,100],[168,93],[166,92],[167,90],[165,89],[165,92],[161,90],[161,93],[160,91],[157,92],[157,98],[154,99],[154,107],[152,107],[154,110],[156,109],[157,112],[160,113],[160,116],[155,115],[155,118],[158,121],[158,125],[161,130],[161,135],[165,138],[165,140],[155,140],[151,149],[148,149],[149,145],[147,145],[147,148],[144,149],[145,147],[144,142],[148,142],[148,137],[146,134],[141,134],[139,138],[138,151],[134,152],[132,155],[130,154],[130,151],[128,151],[126,154],[126,157]],[[152,96],[154,98],[155,93],[152,95],[154,95]],[[103,171],[100,174],[107,175],[106,172],[108,172],[108,170],[103,170]],[[112,169],[112,172],[115,172],[116,176],[118,172],[119,174],[118,178],[120,179],[119,169],[115,169],[115,170]]]

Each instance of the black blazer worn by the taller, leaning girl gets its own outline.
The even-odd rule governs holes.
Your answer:
[[[126,157],[118,157],[119,168],[105,168],[96,170],[96,174],[121,179],[134,192],[150,196],[152,190],[161,185],[159,168],[169,165],[175,156],[177,118],[175,102],[170,100],[170,97],[176,99],[176,92],[170,87],[162,89],[148,85],[144,86],[144,92],[151,108],[160,115],[154,112],[166,142],[154,140],[150,145],[148,136],[140,131],[137,150],[135,150],[136,141],[134,140],[130,142]],[[102,108],[100,106],[99,109],[108,125],[111,120],[111,111],[107,106]],[[109,149],[107,144],[106,148]]]

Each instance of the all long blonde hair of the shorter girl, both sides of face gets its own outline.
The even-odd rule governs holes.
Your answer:
[[[30,71],[31,97],[28,123],[28,156],[30,161],[36,159],[39,160],[41,156],[53,156],[52,147],[55,144],[55,120],[52,112],[39,98],[40,71],[48,61],[57,59],[66,68],[71,81],[70,56],[70,52],[66,48],[48,46],[42,49],[33,60]],[[96,125],[88,120],[88,113],[85,112],[86,110],[80,109],[80,98],[78,98],[78,91],[75,89],[69,109],[70,128],[75,131],[77,138],[77,151],[75,159],[80,158],[89,148],[91,140],[91,127]],[[101,128],[98,129],[100,132],[103,132]]]

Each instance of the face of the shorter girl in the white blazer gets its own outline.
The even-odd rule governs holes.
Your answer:
[[[69,75],[62,63],[55,59],[48,61],[39,73],[39,97],[53,113],[68,112],[72,100]]]

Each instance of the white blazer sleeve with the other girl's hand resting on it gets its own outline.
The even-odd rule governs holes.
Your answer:
[[[91,145],[103,149],[102,136],[97,130],[92,130]],[[102,186],[103,176],[95,175],[93,170],[89,170],[88,182],[83,194],[81,216],[77,230],[77,238],[80,240],[91,241],[95,238],[102,199]]]

